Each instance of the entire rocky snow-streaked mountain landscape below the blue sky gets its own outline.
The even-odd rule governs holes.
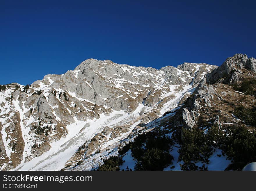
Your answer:
[[[88,59],[31,85],[1,85],[1,170],[240,169],[235,147],[217,139],[231,145],[230,126],[255,129],[239,113],[254,116],[255,69],[243,54],[159,70]]]

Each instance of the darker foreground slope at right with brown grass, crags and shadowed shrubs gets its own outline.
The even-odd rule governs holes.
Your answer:
[[[105,157],[118,160],[95,153],[65,170],[241,170],[255,162],[255,61],[243,54],[227,58],[184,104],[145,124],[141,135],[131,133]]]

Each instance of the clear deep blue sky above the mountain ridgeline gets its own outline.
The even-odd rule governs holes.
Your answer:
[[[0,0],[0,84],[83,60],[160,67],[256,57],[255,1]]]

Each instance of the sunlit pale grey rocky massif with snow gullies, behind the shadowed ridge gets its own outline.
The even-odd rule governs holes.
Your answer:
[[[254,59],[241,58],[241,63],[255,70]],[[68,140],[71,135],[75,139],[79,133],[99,133],[88,146],[88,153],[92,153],[102,137],[118,139],[134,128],[132,123],[109,127],[111,120],[124,115],[134,117],[138,124],[137,120],[147,123],[156,119],[214,68],[205,63],[184,63],[177,68],[154,69],[88,59],[74,70],[46,75],[30,86],[8,84],[0,91],[0,167],[19,169],[54,149],[51,145],[56,141]],[[142,114],[137,115],[137,110]],[[188,126],[193,126],[193,113],[184,115]],[[93,126],[92,121],[97,120],[106,121]]]

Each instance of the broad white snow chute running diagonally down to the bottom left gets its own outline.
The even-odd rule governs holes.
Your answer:
[[[86,140],[93,138],[96,133],[103,130],[105,126],[114,126],[129,117],[124,111],[113,111],[109,116],[100,115],[99,119],[75,122],[67,126],[68,134],[51,143],[51,149],[29,162],[22,163],[14,170],[60,170]],[[139,123],[136,122],[134,126]],[[85,126],[86,125],[86,126]],[[85,128],[83,128],[85,127]],[[131,127],[131,131],[132,131]],[[129,133],[129,132],[128,132]],[[127,133],[124,136],[127,136]]]

